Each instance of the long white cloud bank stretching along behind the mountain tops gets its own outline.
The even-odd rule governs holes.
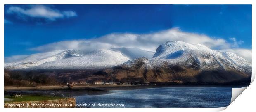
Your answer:
[[[66,49],[92,51],[102,48],[109,49],[118,47],[136,47],[142,50],[155,51],[160,44],[169,40],[184,41],[193,44],[204,44],[209,48],[217,50],[228,49],[232,46],[224,39],[208,37],[204,34],[182,32],[178,28],[172,28],[149,34],[113,33],[94,39],[60,41],[31,48],[31,50],[42,52]]]

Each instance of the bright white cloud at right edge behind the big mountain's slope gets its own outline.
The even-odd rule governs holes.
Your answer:
[[[252,54],[251,49],[237,48],[237,49],[223,49],[220,51],[235,53],[236,55],[246,59],[248,62],[251,63],[251,54]]]

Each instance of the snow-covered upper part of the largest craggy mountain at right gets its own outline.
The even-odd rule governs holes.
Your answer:
[[[149,66],[196,64],[200,69],[237,69],[251,71],[251,64],[235,53],[211,50],[204,45],[193,45],[181,41],[167,41],[156,49]]]

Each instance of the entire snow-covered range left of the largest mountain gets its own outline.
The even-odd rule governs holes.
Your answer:
[[[13,63],[5,63],[5,69],[99,69],[123,64],[135,58],[151,58],[153,55],[154,52],[138,48],[112,48],[91,53],[61,50],[37,53]]]

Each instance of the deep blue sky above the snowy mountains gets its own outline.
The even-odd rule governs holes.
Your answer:
[[[5,5],[5,57],[76,48],[81,40],[102,41],[113,33],[115,40],[188,33],[193,40],[205,36],[198,43],[214,43],[206,45],[213,49],[251,50],[251,5]]]

